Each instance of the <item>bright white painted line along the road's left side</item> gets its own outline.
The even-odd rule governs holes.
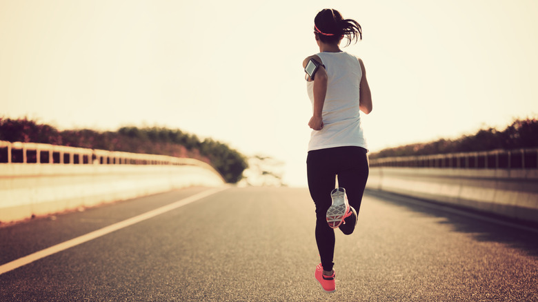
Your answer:
[[[77,238],[65,241],[63,243],[53,245],[50,248],[40,250],[39,252],[34,252],[33,254],[29,254],[28,256],[24,256],[24,257],[19,258],[17,260],[14,260],[14,261],[8,262],[6,264],[0,265],[0,274],[3,274],[5,272],[9,272],[10,270],[14,270],[16,268],[20,268],[23,265],[27,265],[28,263],[32,263],[32,262],[37,261],[37,260],[39,260],[41,258],[44,258],[46,256],[56,254],[57,252],[67,250],[68,248],[72,248],[72,247],[74,247],[76,245],[79,245],[81,243],[85,243],[85,242],[90,241],[92,239],[96,239],[96,238],[98,238],[100,236],[104,236],[104,235],[109,234],[111,232],[120,230],[122,228],[126,228],[129,225],[133,225],[135,223],[139,223],[140,221],[144,221],[146,219],[156,217],[157,215],[166,213],[168,211],[180,208],[183,205],[187,205],[189,203],[198,201],[200,199],[203,199],[204,197],[208,197],[208,196],[210,196],[212,194],[216,194],[218,192],[221,192],[222,190],[226,190],[227,188],[229,188],[229,187],[225,186],[225,187],[219,187],[219,188],[206,190],[206,191],[200,192],[198,194],[192,195],[190,197],[187,197],[185,199],[175,201],[174,203],[170,203],[169,205],[164,205],[161,208],[151,210],[149,212],[140,214],[140,215],[132,217],[130,219],[120,221],[119,223],[114,223],[112,225],[108,225],[105,228],[101,228],[99,230],[90,232],[88,234],[84,234],[82,236],[78,236]]]

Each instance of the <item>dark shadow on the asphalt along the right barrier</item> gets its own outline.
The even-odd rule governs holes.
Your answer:
[[[538,225],[388,192],[366,190],[366,195],[413,212],[443,218],[439,223],[450,223],[455,232],[471,234],[477,241],[508,244],[538,257]]]

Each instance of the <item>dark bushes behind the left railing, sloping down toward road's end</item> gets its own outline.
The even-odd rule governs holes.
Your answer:
[[[200,141],[196,135],[159,127],[122,127],[115,132],[90,129],[58,131],[28,119],[0,118],[0,140],[50,143],[79,148],[161,154],[190,157],[205,161],[228,183],[241,180],[248,167],[246,158],[237,150],[212,139]]]

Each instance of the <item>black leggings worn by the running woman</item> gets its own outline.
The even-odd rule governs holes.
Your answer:
[[[338,185],[346,189],[349,204],[359,214],[362,195],[368,179],[368,152],[361,147],[337,147],[308,152],[306,170],[308,189],[316,205],[316,243],[323,270],[331,271],[335,263],[335,230],[330,228],[326,213],[332,199],[330,192]]]

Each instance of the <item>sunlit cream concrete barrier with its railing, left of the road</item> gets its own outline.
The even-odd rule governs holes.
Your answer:
[[[7,145],[6,142],[1,143]],[[61,147],[23,145],[24,161],[26,149],[32,150],[39,146],[39,152],[42,152],[43,148],[50,146],[52,159],[52,153]],[[15,147],[23,145],[19,143]],[[8,153],[10,152],[11,150]],[[193,185],[224,184],[217,171],[207,163],[195,159],[107,153],[103,150],[88,152],[88,149],[79,148],[63,148],[61,152],[71,152],[66,155],[68,163],[54,163],[52,160],[39,163],[39,157],[37,163],[12,163],[11,158],[9,163],[0,163],[1,222],[19,221],[32,216],[86,208]],[[75,164],[76,160],[73,159],[77,157],[74,154],[77,152],[86,154],[86,163],[80,157],[79,164]],[[61,159],[63,161],[63,154]]]

